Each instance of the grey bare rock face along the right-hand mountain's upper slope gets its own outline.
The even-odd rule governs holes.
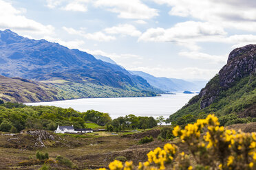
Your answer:
[[[228,62],[220,70],[219,74],[206,84],[199,94],[202,99],[200,108],[206,108],[213,104],[220,90],[226,90],[234,85],[234,82],[256,74],[256,45],[246,45],[234,49],[228,56]]]

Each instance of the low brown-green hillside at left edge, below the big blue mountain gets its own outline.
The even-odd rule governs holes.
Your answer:
[[[0,75],[0,99],[11,102],[36,102],[65,99],[61,90],[47,84]]]

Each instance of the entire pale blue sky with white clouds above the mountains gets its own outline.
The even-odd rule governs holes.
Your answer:
[[[254,0],[0,0],[0,30],[107,56],[156,77],[209,80],[256,43]]]

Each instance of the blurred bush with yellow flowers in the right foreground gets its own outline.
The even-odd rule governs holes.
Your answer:
[[[204,135],[202,135],[204,134]],[[114,160],[109,164],[111,170],[162,170],[166,169],[209,169],[209,170],[253,170],[256,169],[256,133],[227,130],[220,126],[217,117],[209,114],[206,119],[198,119],[181,129],[174,127],[173,135],[180,137],[189,149],[189,155],[179,153],[178,147],[167,143],[147,154],[146,162]],[[193,164],[191,162],[193,160]],[[105,169],[100,169],[105,170]]]

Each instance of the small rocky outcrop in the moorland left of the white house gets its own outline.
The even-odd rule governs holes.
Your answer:
[[[31,136],[36,137],[36,142],[35,145],[37,147],[45,147],[45,144],[43,143],[43,140],[52,140],[55,141],[55,138],[52,134],[49,132],[46,132],[45,130],[28,130],[26,132],[27,134]]]

